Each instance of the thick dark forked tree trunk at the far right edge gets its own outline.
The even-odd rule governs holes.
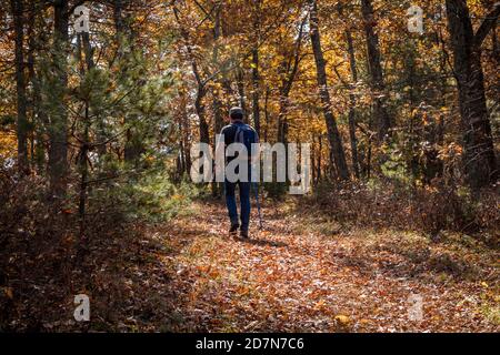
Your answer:
[[[499,17],[500,3],[487,16],[476,34],[466,0],[447,0],[446,3],[459,91],[464,169],[470,186],[477,191],[496,182],[498,178],[484,95],[481,43]]]

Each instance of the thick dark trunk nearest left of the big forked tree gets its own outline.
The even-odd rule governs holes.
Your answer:
[[[361,0],[361,12],[364,20],[364,32],[367,37],[368,69],[371,81],[370,87],[373,95],[373,114],[378,125],[379,144],[390,136],[391,120],[386,108],[384,82],[382,65],[380,63],[379,37],[374,31],[376,19],[371,0]]]

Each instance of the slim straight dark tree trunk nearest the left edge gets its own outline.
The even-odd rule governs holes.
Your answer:
[[[29,171],[28,165],[28,119],[24,78],[24,20],[22,0],[11,0],[14,42],[16,42],[16,88],[17,88],[17,134],[18,134],[18,169],[24,174]]]

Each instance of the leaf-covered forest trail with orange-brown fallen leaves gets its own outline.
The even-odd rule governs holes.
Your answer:
[[[228,235],[219,203],[196,203],[192,214],[161,226],[176,295],[168,329],[500,331],[488,284],[498,275],[477,264],[480,255],[460,258],[457,247],[403,232],[328,230],[291,209],[264,207],[261,232],[252,210],[250,241]],[[421,308],[411,297],[421,297]]]

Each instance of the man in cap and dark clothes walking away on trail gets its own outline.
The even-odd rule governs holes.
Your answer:
[[[258,158],[258,152],[252,152],[252,144],[259,143],[259,136],[253,128],[243,122],[243,110],[241,108],[232,108],[229,111],[230,124],[224,126],[221,131],[223,135],[223,145],[226,152],[228,152],[228,146],[232,143],[241,143],[247,149],[247,156],[241,158],[248,164],[247,174],[244,172],[236,171],[238,179],[236,182],[231,182],[226,176],[224,180],[224,194],[226,204],[228,206],[229,219],[231,221],[231,227],[229,230],[230,234],[236,234],[238,229],[240,229],[240,236],[242,239],[248,239],[248,230],[250,224],[250,186],[251,186],[251,164],[256,158]],[[220,142],[222,144],[222,142]],[[253,155],[252,155],[253,153]],[[226,154],[226,166],[236,156],[228,156]],[[238,170],[238,169],[237,169]],[[238,210],[236,202],[236,186],[238,185],[240,190],[240,213],[241,213],[241,224],[238,219]]]

